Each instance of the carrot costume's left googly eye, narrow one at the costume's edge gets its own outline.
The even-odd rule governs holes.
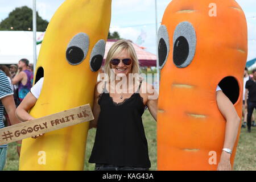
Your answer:
[[[166,26],[161,25],[158,30],[158,63],[162,69],[166,64],[170,52],[169,35]]]

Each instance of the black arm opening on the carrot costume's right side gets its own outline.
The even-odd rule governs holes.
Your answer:
[[[233,76],[225,77],[220,81],[218,86],[220,86],[222,92],[229,98],[229,100],[233,104],[236,104],[240,95],[237,79]]]

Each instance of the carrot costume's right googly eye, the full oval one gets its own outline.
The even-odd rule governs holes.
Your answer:
[[[196,31],[189,22],[181,22],[174,31],[174,64],[185,68],[191,64],[196,52]]]

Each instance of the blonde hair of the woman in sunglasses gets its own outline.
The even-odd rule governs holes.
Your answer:
[[[127,50],[128,54],[130,55],[131,59],[133,60],[133,65],[131,68],[131,73],[135,74],[135,73],[140,73],[140,69],[139,69],[139,60],[137,57],[137,54],[135,52],[135,49],[133,47],[133,44],[131,44],[131,42],[129,40],[118,40],[117,42],[115,42],[112,47],[110,47],[108,55],[106,57],[106,62],[105,62],[105,73],[108,75],[109,77],[109,81],[110,81],[110,72],[111,72],[111,63],[110,60],[113,59],[114,55],[117,55],[118,53],[121,53],[123,50]]]

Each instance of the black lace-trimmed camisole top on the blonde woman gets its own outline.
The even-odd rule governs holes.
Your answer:
[[[105,86],[98,100],[101,111],[89,163],[150,168],[140,88],[141,84],[130,98],[116,104]]]

